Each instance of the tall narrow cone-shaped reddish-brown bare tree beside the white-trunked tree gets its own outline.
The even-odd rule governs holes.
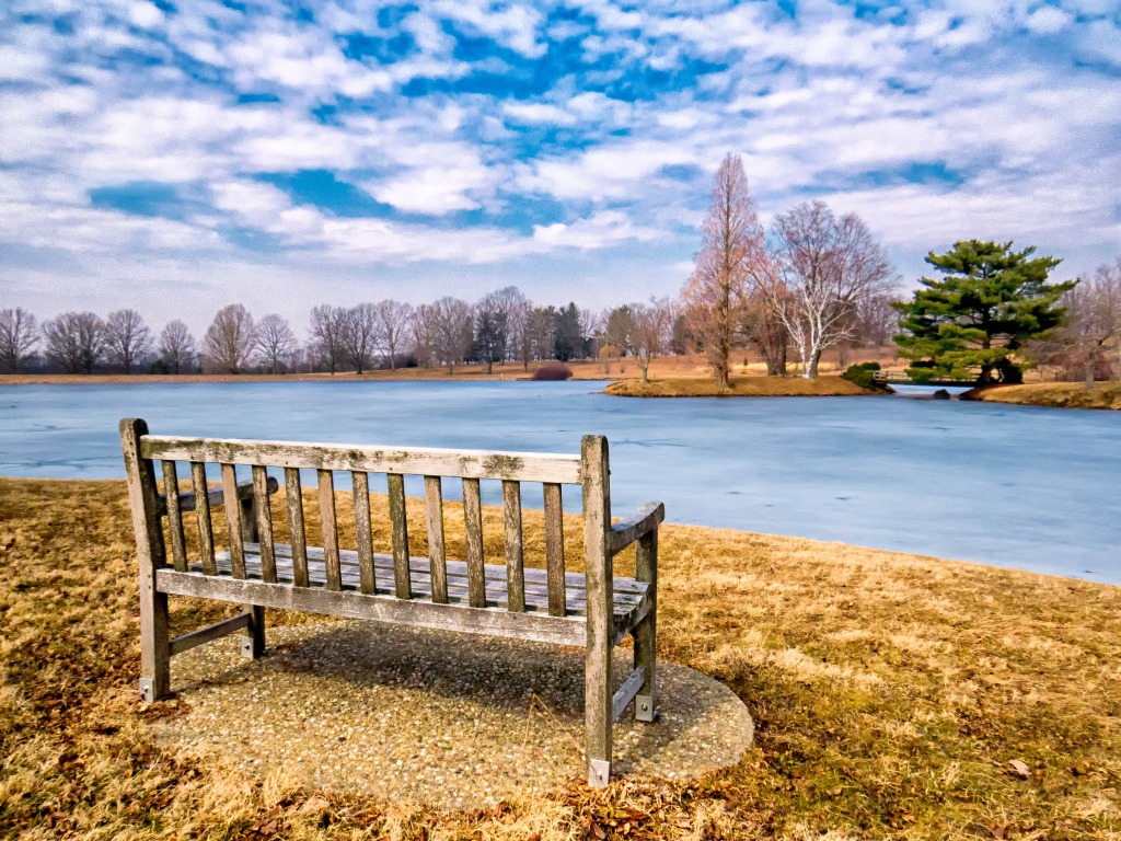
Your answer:
[[[693,260],[684,292],[687,317],[717,385],[726,389],[744,298],[753,278],[769,266],[739,156],[728,155],[716,170],[701,250]]]

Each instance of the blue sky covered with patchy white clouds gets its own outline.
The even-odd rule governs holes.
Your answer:
[[[196,334],[519,286],[676,295],[713,174],[860,214],[902,288],[1121,255],[1121,3],[6,0],[0,308]]]

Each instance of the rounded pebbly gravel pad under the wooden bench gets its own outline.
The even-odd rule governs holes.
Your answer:
[[[188,752],[312,788],[470,808],[583,775],[584,653],[361,621],[274,626],[256,662],[226,638],[176,659],[184,712],[154,724]],[[630,671],[623,649],[615,682]],[[658,664],[660,720],[615,724],[621,776],[733,765],[752,721],[723,684]]]

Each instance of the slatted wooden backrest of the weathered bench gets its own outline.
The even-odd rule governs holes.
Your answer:
[[[214,529],[211,521],[212,500],[220,498],[230,532],[230,569],[234,577],[244,579],[245,543],[259,544],[261,577],[277,581],[275,540],[268,495],[276,480],[268,469],[284,471],[287,519],[290,534],[294,584],[313,586],[307,574],[307,529],[304,521],[300,470],[315,470],[323,532],[323,558],[326,567],[325,588],[342,590],[339,528],[335,514],[335,472],[351,474],[354,499],[354,526],[358,537],[359,589],[374,593],[374,557],[370,512],[369,474],[383,473],[389,491],[389,519],[393,558],[395,594],[414,599],[410,583],[408,521],[405,507],[405,477],[423,477],[426,497],[426,528],[432,569],[430,600],[448,601],[448,584],[444,545],[443,484],[445,478],[458,479],[463,488],[463,510],[466,534],[467,583],[466,600],[471,607],[485,607],[485,571],[483,558],[482,508],[480,480],[502,483],[503,525],[506,533],[506,572],[508,609],[524,611],[524,537],[521,523],[521,482],[541,482],[545,505],[545,557],[548,584],[548,612],[565,616],[565,558],[562,517],[562,486],[580,484],[584,511],[584,555],[589,601],[611,603],[611,516],[608,471],[608,442],[602,435],[586,435],[580,455],[545,453],[507,453],[471,450],[424,450],[353,446],[346,444],[311,444],[276,441],[238,441],[221,438],[173,437],[149,435],[140,419],[121,422],[121,440],[128,468],[130,500],[142,508],[149,536],[147,547],[154,569],[167,564],[164,529],[159,518],[167,517],[172,565],[187,570],[184,538],[184,514],[195,510],[202,569],[217,574]],[[164,493],[156,478],[160,463]],[[176,462],[191,464],[194,493],[184,498],[178,490]],[[207,490],[206,464],[220,465],[222,493]],[[251,493],[239,489],[238,465],[249,468]],[[272,483],[270,487],[270,482]],[[247,500],[251,503],[247,505]],[[257,538],[253,540],[252,538]],[[258,547],[254,547],[257,549]],[[603,601],[605,598],[605,602]],[[599,612],[599,611],[595,611]]]

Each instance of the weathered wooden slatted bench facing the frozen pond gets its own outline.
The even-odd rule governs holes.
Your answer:
[[[518,639],[586,646],[585,727],[589,783],[611,777],[611,729],[634,701],[634,718],[655,721],[655,645],[660,502],[611,524],[608,441],[586,435],[580,455],[389,449],[149,435],[141,419],[121,420],[121,445],[140,563],[140,692],[170,692],[170,658],[233,632],[242,651],[265,650],[265,608],[372,619]],[[156,462],[160,462],[160,478]],[[179,490],[176,462],[188,462],[193,492]],[[216,464],[221,488],[207,484]],[[249,481],[238,481],[238,466]],[[290,543],[274,540],[269,495],[285,483]],[[309,546],[300,471],[316,471],[322,546]],[[340,546],[334,471],[351,474],[356,547]],[[374,553],[369,473],[385,473],[392,553]],[[428,557],[410,557],[405,477],[424,477]],[[446,557],[443,478],[462,480],[466,557]],[[504,563],[483,555],[480,480],[502,483]],[[525,565],[521,482],[540,482],[545,567]],[[567,572],[562,486],[578,484],[584,508],[584,572]],[[212,511],[224,510],[229,549],[214,545]],[[188,553],[185,514],[194,511],[197,552]],[[192,542],[193,543],[193,542]],[[634,577],[615,576],[612,558],[636,546]],[[168,547],[170,558],[168,558]],[[191,556],[188,556],[188,554]],[[168,595],[245,606],[239,616],[170,639]],[[612,691],[614,647],[630,634],[633,671]]]

